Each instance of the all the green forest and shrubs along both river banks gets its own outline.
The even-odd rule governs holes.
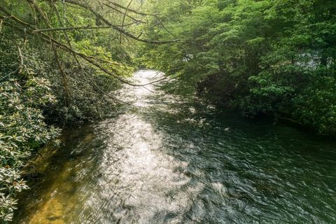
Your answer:
[[[2,0],[0,220],[62,128],[102,120],[139,67],[167,91],[336,134],[334,0]],[[170,90],[169,90],[170,89]]]

